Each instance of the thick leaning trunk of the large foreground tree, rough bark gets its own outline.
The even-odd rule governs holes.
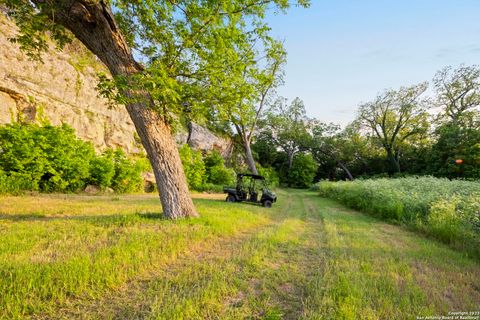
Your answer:
[[[36,0],[45,5],[46,1]],[[113,76],[131,76],[142,71],[125,42],[108,3],[90,0],[55,0],[42,6],[55,23],[70,30],[110,70]],[[142,97],[126,105],[157,181],[163,213],[169,218],[194,217],[197,212],[190,198],[178,149],[170,125],[152,108],[146,92],[124,89],[123,94]]]

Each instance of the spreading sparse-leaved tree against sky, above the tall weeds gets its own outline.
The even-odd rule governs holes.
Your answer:
[[[429,115],[420,101],[427,87],[427,83],[421,83],[388,90],[359,108],[357,121],[385,150],[390,173],[401,171],[402,149],[408,144],[415,144],[428,133]]]

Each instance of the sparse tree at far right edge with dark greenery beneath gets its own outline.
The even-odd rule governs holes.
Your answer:
[[[427,172],[449,178],[480,178],[480,69],[446,67],[433,80],[441,107]],[[461,163],[455,160],[461,159]]]

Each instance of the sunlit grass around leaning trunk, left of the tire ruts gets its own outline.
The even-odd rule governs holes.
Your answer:
[[[255,210],[197,201],[200,219],[168,221],[156,197],[4,197],[0,313],[48,314],[72,297],[98,297],[195,243],[268,221]]]

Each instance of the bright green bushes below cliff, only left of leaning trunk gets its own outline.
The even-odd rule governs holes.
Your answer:
[[[121,150],[97,156],[67,125],[10,124],[0,127],[0,192],[74,192],[87,184],[117,192],[139,191],[145,171]]]

